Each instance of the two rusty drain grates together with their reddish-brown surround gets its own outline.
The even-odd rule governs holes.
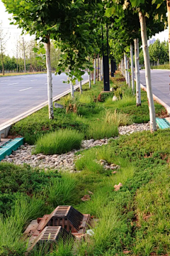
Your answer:
[[[33,220],[26,228],[24,235],[30,238],[28,252],[42,242],[81,240],[89,224],[89,214],[82,214],[72,206],[58,206],[50,215]]]

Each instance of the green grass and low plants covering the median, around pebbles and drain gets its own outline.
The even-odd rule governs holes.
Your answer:
[[[123,83],[116,79],[115,86]],[[96,102],[102,83],[92,85],[91,91],[86,90],[86,85],[84,95],[77,100],[77,113],[55,110],[55,120],[48,121],[44,108],[15,124],[11,134],[34,131],[34,143],[42,134],[50,136],[60,128],[79,130],[84,137],[101,137],[103,132],[100,134],[94,125],[101,120],[108,124],[109,136],[112,122],[114,133],[123,123],[148,122],[146,93],[142,92],[142,107],[136,107],[135,96],[125,85],[121,88],[122,100],[112,102],[110,95],[103,102]],[[118,92],[115,94],[118,96]],[[67,101],[71,104],[68,98],[60,103]],[[157,103],[155,107],[157,114],[164,112]],[[72,205],[81,213],[91,214],[94,235],[74,245],[73,241],[60,242],[49,253],[43,247],[35,247],[29,256],[169,255],[169,134],[169,129],[152,134],[138,132],[81,151],[82,157],[75,162],[80,172],[74,174],[0,163],[0,255],[25,255],[28,240],[22,234],[30,220],[51,213],[59,205]],[[28,136],[26,139],[30,142]],[[117,164],[120,169],[113,174],[103,169],[100,159]],[[123,186],[115,191],[118,183]],[[89,191],[93,193],[91,200],[82,202]]]

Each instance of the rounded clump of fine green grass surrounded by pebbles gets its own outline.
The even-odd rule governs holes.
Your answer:
[[[72,149],[79,149],[83,139],[84,134],[71,129],[60,129],[40,137],[33,153],[63,154]]]

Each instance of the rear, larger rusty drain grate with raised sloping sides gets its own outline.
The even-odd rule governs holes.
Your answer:
[[[78,232],[84,215],[72,206],[58,206],[50,220],[48,226],[62,226],[67,232]]]

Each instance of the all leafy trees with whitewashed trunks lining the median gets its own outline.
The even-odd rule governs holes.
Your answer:
[[[166,12],[169,13],[169,1],[164,0],[2,0],[8,13],[13,14],[13,24],[23,28],[35,39],[40,41],[35,52],[45,55],[47,66],[47,85],[49,117],[54,118],[52,106],[52,65],[50,46],[51,40],[61,55],[57,65],[57,74],[69,70],[71,94],[74,96],[75,80],[82,80],[84,68],[91,70],[90,59],[106,55],[110,46],[110,55],[120,63],[120,70],[130,82],[130,63],[132,90],[135,89],[133,74],[133,54],[135,53],[136,97],[137,106],[140,99],[140,68],[139,54],[142,46],[145,60],[147,97],[149,102],[151,131],[157,129],[152,97],[152,84],[149,63],[147,38],[164,31]],[[109,41],[106,36],[109,30]],[[169,41],[170,42],[170,41]],[[103,49],[103,50],[101,50]],[[96,68],[94,66],[94,73]],[[95,75],[94,75],[95,78]]]

